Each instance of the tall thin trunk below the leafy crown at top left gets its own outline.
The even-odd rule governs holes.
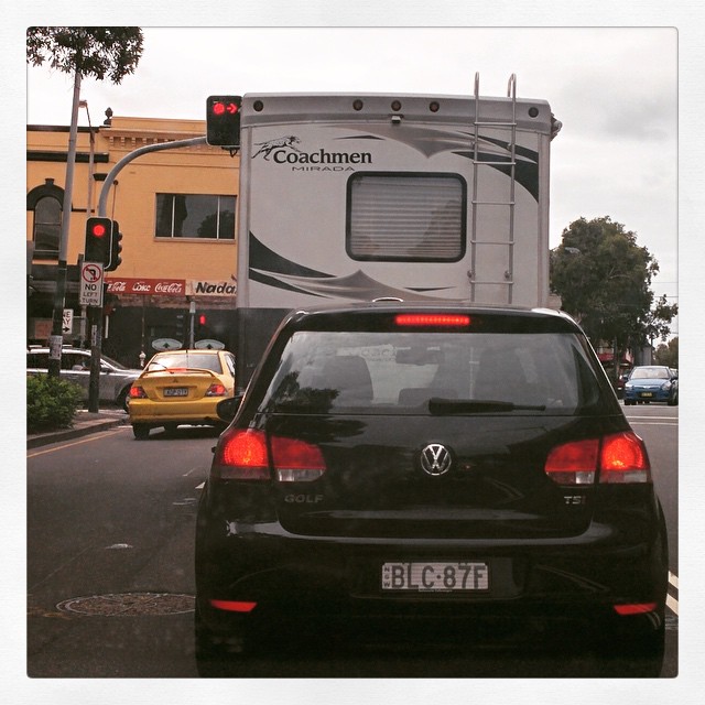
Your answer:
[[[66,257],[68,252],[68,232],[70,227],[70,207],[74,188],[74,166],[76,163],[76,135],[78,133],[78,101],[80,93],[80,72],[74,77],[74,101],[70,113],[70,130],[68,132],[68,154],[66,159],[66,184],[64,185],[64,206],[62,212],[62,232],[58,246],[58,265],[56,268],[56,292],[54,294],[54,313],[52,318],[52,335],[48,338],[48,377],[58,379],[62,369],[62,333],[64,321],[64,305],[66,302]]]

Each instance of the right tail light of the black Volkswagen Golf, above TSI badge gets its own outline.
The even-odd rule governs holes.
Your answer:
[[[565,443],[551,451],[544,470],[558,485],[650,482],[647,448],[631,432]]]

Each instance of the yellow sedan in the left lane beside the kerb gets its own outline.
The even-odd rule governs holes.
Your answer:
[[[180,424],[217,426],[216,405],[235,393],[235,357],[227,350],[158,352],[130,388],[129,414],[134,437],[151,429]]]

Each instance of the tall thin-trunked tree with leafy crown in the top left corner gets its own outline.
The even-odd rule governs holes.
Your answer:
[[[31,26],[26,32],[26,61],[33,66],[48,62],[52,68],[74,75],[74,99],[72,107],[68,151],[66,159],[66,183],[64,185],[64,208],[62,232],[56,268],[56,294],[52,335],[50,337],[48,376],[58,379],[61,370],[62,322],[66,300],[66,252],[70,220],[70,204],[76,161],[76,134],[78,131],[78,102],[80,79],[94,76],[102,80],[106,76],[119,84],[131,74],[142,56],[142,31],[131,26]],[[99,344],[91,365],[91,392],[89,406],[98,410],[97,381],[99,371]],[[94,368],[95,367],[95,371]],[[95,377],[95,383],[94,383]],[[95,398],[95,399],[94,399]]]

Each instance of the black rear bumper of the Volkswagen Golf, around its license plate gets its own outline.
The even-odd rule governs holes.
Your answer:
[[[668,575],[665,536],[626,544],[606,541],[599,527],[572,544],[457,542],[455,547],[448,542],[321,541],[245,531],[217,545],[200,536],[196,555],[202,617],[212,629],[225,631],[243,619],[259,622],[282,615],[304,620],[589,621],[597,616],[617,619],[618,604],[649,603],[655,603],[651,611],[659,623]],[[390,561],[482,562],[489,567],[490,586],[484,592],[386,590],[382,564]],[[214,608],[212,599],[257,605],[242,615]],[[653,626],[654,619],[647,617],[644,622]]]

